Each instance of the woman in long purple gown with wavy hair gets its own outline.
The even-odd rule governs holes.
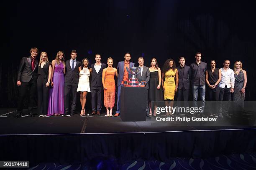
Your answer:
[[[51,90],[49,94],[49,106],[47,116],[63,115],[64,109],[64,52],[59,51],[55,60],[52,60]]]

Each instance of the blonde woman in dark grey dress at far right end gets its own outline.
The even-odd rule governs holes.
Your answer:
[[[247,83],[246,71],[243,70],[243,64],[241,61],[236,61],[234,64],[235,74],[235,87],[233,93],[233,100],[243,108],[245,89]]]

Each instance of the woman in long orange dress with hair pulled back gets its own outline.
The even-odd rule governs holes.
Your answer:
[[[102,84],[104,88],[104,105],[107,109],[107,115],[112,116],[112,110],[115,105],[115,76],[118,76],[117,69],[112,67],[113,59],[107,60],[108,67],[103,69]],[[110,108],[110,110],[108,110]]]

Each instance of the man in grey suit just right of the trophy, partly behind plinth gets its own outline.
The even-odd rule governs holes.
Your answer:
[[[138,79],[138,82],[146,81],[145,82],[145,87],[147,88],[147,98],[146,98],[147,105],[145,106],[146,107],[146,115],[148,117],[151,117],[149,115],[149,107],[148,107],[148,89],[149,89],[148,81],[150,79],[150,72],[149,72],[148,67],[144,66],[144,59],[143,59],[143,57],[138,57],[138,63],[139,63],[138,68],[140,68],[140,73],[137,74],[137,79]]]

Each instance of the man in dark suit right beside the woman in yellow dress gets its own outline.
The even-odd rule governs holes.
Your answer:
[[[189,99],[189,87],[190,87],[190,75],[191,70],[190,67],[185,65],[185,58],[179,58],[179,66],[177,67],[179,73],[179,85],[178,85],[178,96],[177,100],[184,100],[184,107],[189,107],[188,99]],[[180,102],[179,102],[180,105]]]

